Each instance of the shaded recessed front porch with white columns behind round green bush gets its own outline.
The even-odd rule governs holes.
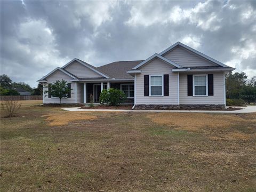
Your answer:
[[[103,89],[119,89],[126,94],[125,103],[134,102],[134,82],[75,82],[76,103],[100,103]]]

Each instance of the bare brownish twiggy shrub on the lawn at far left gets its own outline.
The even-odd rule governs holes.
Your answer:
[[[20,109],[21,103],[10,96],[8,100],[2,101],[1,106],[5,111],[7,117],[13,117],[15,113]]]

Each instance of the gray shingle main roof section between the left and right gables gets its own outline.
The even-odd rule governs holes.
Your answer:
[[[133,79],[133,77],[126,73],[126,71],[131,70],[133,67],[137,66],[143,60],[139,61],[116,61],[97,67],[97,70],[103,71],[110,78],[115,79]]]

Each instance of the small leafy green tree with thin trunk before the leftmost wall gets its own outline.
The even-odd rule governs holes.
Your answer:
[[[53,97],[60,98],[60,105],[61,105],[61,99],[66,98],[66,95],[72,90],[68,87],[67,82],[65,80],[57,80],[55,83],[52,84],[51,90],[49,91],[49,86],[48,90],[44,91],[44,93],[49,93],[51,91],[51,94]]]

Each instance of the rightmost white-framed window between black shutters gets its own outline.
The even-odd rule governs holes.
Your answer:
[[[207,75],[193,75],[193,96],[208,96]]]

